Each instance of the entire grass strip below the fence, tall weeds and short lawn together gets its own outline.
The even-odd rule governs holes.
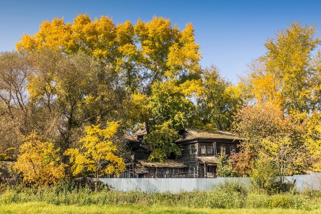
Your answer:
[[[107,210],[107,211],[106,211]],[[273,212],[271,211],[273,210]],[[0,186],[1,213],[321,213],[321,191],[267,194],[226,183],[209,191],[94,192],[70,184]]]

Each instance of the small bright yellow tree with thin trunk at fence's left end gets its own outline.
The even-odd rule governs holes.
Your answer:
[[[98,178],[101,174],[117,174],[125,170],[122,158],[115,155],[116,146],[111,142],[111,137],[117,132],[118,123],[108,122],[105,129],[101,125],[86,126],[87,135],[82,138],[81,148],[68,149],[65,155],[70,156],[73,175],[81,173],[93,174],[97,190]]]

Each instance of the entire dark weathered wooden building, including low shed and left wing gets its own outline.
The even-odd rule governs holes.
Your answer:
[[[147,161],[149,148],[144,145],[145,129],[126,135],[132,162],[127,163],[123,178],[215,178],[220,154],[234,155],[239,152],[240,139],[227,131],[205,131],[184,128],[175,142],[181,154],[163,163]]]

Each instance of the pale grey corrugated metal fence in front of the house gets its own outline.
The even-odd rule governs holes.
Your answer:
[[[294,175],[285,178],[289,182],[293,182],[297,190],[302,191],[304,188],[321,190],[321,173],[311,173],[308,175]],[[102,178],[99,179],[114,189],[121,191],[143,191],[143,192],[180,192],[193,190],[210,190],[216,185],[225,181],[236,181],[250,187],[249,178]]]

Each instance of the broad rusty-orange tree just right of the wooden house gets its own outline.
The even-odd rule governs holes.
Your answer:
[[[284,118],[283,112],[271,104],[240,109],[233,122],[234,131],[243,138],[234,165],[240,176],[250,172],[258,154],[269,157],[279,176],[300,173],[309,167],[301,124]],[[245,174],[244,174],[245,173]]]

